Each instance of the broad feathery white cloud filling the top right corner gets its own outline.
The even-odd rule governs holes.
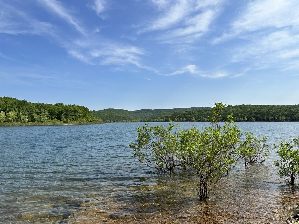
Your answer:
[[[299,57],[299,1],[250,1],[228,31],[214,44],[242,39],[231,49],[231,63],[247,63],[249,69],[294,68]]]

